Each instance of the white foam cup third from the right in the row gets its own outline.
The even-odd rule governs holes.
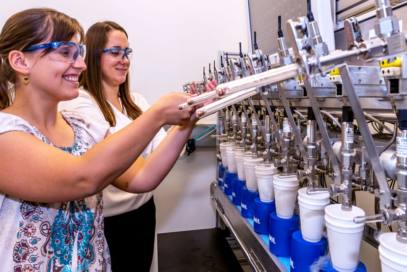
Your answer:
[[[308,242],[318,242],[324,229],[325,207],[329,205],[329,193],[307,194],[307,188],[298,190],[301,234]]]

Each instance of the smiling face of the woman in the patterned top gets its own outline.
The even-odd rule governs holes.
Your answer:
[[[79,42],[77,35],[70,42]],[[78,96],[78,77],[86,69],[81,56],[72,64],[63,61],[54,61],[48,55],[39,57],[43,50],[37,53],[37,60],[30,75],[30,87],[41,90],[41,94],[56,102],[71,100]],[[34,57],[34,56],[33,56]]]

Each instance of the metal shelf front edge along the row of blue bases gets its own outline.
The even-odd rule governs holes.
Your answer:
[[[254,231],[250,222],[241,215],[239,208],[225,195],[217,181],[211,184],[211,200],[254,271],[288,271],[279,258],[271,254],[268,244]]]

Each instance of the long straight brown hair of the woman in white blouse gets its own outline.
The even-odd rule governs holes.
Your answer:
[[[122,26],[112,21],[97,22],[86,32],[85,45],[87,52],[84,61],[88,68],[80,75],[79,86],[83,86],[95,99],[110,126],[115,126],[116,118],[113,109],[107,102],[103,92],[102,70],[100,67],[102,51],[108,40],[107,35],[112,30],[121,31],[128,37]],[[141,109],[131,99],[129,74],[126,75],[124,83],[119,86],[119,96],[129,118],[134,120],[140,116]]]

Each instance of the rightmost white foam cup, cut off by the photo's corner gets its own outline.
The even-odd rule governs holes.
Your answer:
[[[397,241],[396,233],[380,235],[379,257],[382,272],[407,271],[407,243]]]

